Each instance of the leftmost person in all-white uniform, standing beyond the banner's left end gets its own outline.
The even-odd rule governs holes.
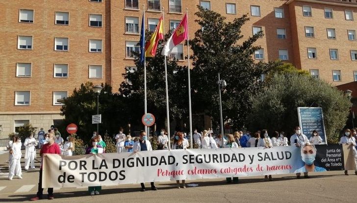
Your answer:
[[[18,136],[14,136],[12,139],[12,145],[10,149],[11,160],[9,162],[9,180],[17,175],[19,179],[22,179],[22,172],[21,172],[21,140]]]

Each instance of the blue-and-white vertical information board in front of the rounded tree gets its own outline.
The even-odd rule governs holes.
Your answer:
[[[322,138],[321,144],[327,144],[324,115],[320,107],[298,107],[299,125],[308,139],[312,131],[316,130]]]

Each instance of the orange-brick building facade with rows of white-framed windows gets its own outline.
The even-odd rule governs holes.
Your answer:
[[[154,30],[164,13],[165,30],[188,13],[189,38],[197,5],[228,21],[247,14],[242,40],[262,30],[258,60],[306,69],[335,86],[357,80],[356,0],[23,0],[0,2],[0,138],[31,123],[49,129],[60,122],[61,103],[87,81],[116,91],[145,26]],[[163,12],[161,10],[163,8]],[[185,65],[178,45],[172,57]]]

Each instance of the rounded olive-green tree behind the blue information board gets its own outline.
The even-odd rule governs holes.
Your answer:
[[[251,130],[284,131],[287,135],[299,125],[298,107],[322,107],[329,143],[338,141],[351,105],[342,91],[327,82],[297,73],[275,74],[268,87],[251,101]]]

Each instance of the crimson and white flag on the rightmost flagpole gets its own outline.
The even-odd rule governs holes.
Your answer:
[[[176,45],[188,39],[187,24],[188,23],[187,23],[187,13],[186,13],[182,21],[178,24],[177,28],[172,33],[171,37],[169,38],[164,48],[162,49],[161,52],[162,55],[168,56]]]

